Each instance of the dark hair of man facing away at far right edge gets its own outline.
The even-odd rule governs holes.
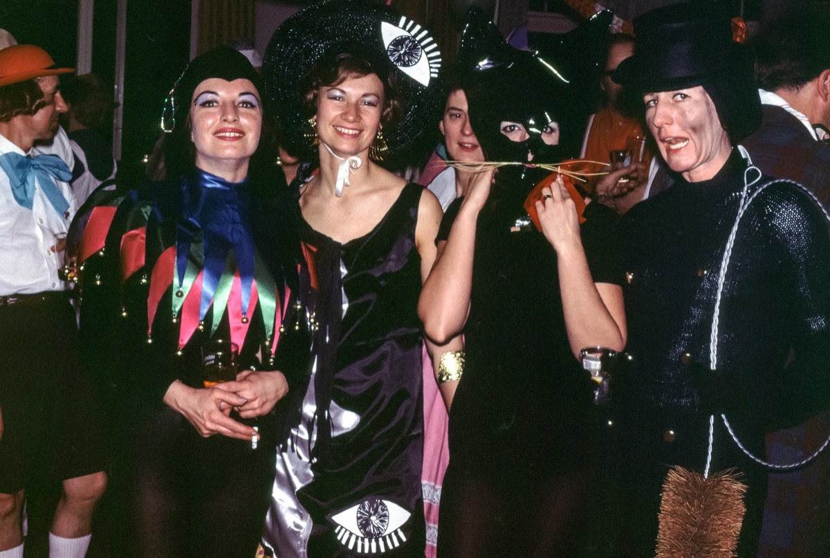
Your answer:
[[[830,6],[804,5],[764,27],[751,42],[755,78],[768,90],[798,89],[830,68]]]

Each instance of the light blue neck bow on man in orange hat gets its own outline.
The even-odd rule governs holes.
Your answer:
[[[63,197],[61,189],[52,182],[54,177],[69,182],[72,171],[57,155],[44,154],[25,157],[19,153],[0,155],[0,169],[8,176],[12,186],[12,196],[23,208],[32,209],[35,203],[35,179],[41,185],[51,206],[62,218],[66,218],[69,202]]]

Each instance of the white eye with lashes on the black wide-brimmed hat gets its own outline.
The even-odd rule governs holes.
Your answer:
[[[422,86],[428,86],[441,68],[441,51],[426,29],[406,17],[398,25],[381,22],[383,47],[395,66]],[[427,56],[423,56],[426,53]]]

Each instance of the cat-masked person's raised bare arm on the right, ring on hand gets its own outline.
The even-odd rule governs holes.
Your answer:
[[[536,202],[536,210],[544,237],[557,254],[559,288],[571,351],[579,358],[579,350],[592,345],[623,350],[627,335],[623,289],[593,282],[579,236],[574,201],[561,179],[551,186],[543,189],[544,198]]]

